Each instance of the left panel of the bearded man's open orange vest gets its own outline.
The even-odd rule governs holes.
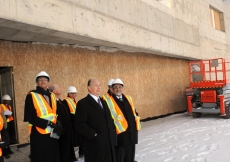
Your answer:
[[[128,123],[127,123],[121,109],[119,108],[117,103],[114,101],[113,97],[111,97],[108,93],[103,95],[102,97],[106,101],[106,103],[109,107],[111,116],[114,120],[114,125],[116,127],[116,133],[120,134],[120,133],[126,131],[128,128]]]

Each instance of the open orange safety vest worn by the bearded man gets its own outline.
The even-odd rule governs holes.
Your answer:
[[[119,106],[117,105],[117,103],[115,102],[113,97],[111,97],[108,93],[106,93],[102,97],[106,101],[106,103],[110,109],[110,113],[111,113],[111,116],[114,120],[114,125],[116,127],[116,133],[120,134],[120,133],[126,131],[128,128],[128,122],[126,121],[124,114],[122,113],[121,109],[119,108]],[[130,96],[128,96],[128,97],[131,98]],[[126,96],[126,98],[127,98],[127,96]],[[127,100],[129,101],[129,104],[133,110],[133,114],[134,114],[136,126],[137,126],[136,128],[137,128],[137,130],[140,130],[141,129],[140,117],[136,115],[133,102],[132,102],[132,100],[130,101],[129,98],[127,98]]]

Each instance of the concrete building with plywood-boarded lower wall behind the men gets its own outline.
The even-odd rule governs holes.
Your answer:
[[[12,96],[18,143],[26,94],[45,70],[63,89],[87,95],[89,78],[107,91],[121,78],[142,119],[187,108],[188,62],[227,58],[229,0],[0,1],[1,93]]]

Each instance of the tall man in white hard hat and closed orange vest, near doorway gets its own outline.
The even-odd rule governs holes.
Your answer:
[[[24,109],[24,122],[29,124],[31,162],[60,162],[57,136],[63,127],[57,122],[56,97],[48,91],[50,77],[41,71],[35,81],[37,87],[27,94]]]

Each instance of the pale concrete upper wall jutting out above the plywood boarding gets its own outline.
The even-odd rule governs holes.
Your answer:
[[[209,5],[224,13],[225,32],[211,27]],[[172,0],[172,8],[155,0],[2,0],[0,22],[98,46],[203,59],[228,56],[229,10],[223,0]]]

